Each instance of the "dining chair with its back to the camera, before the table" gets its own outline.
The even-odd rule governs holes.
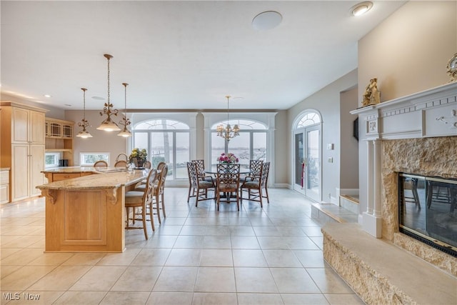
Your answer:
[[[236,207],[240,210],[240,164],[217,164],[216,171],[216,204],[219,211],[221,203],[221,193],[226,196],[227,203],[231,202],[231,196],[234,194],[236,199]]]

